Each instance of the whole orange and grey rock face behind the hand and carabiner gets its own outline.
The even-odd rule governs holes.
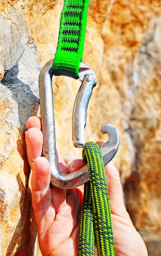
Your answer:
[[[37,114],[40,66],[56,51],[62,5],[56,0],[0,0],[2,256],[36,255],[24,137],[26,119]],[[160,1],[91,0],[83,62],[98,80],[88,109],[86,141],[103,138],[103,123],[118,128],[121,144],[114,163],[126,207],[149,256],[160,256]],[[80,83],[66,77],[53,80],[57,147],[63,156],[81,156],[72,145],[72,108]]]

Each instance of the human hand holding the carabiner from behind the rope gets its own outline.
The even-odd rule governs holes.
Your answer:
[[[43,134],[39,117],[27,121],[27,157],[32,169],[32,205],[37,223],[40,250],[43,256],[77,256],[83,186],[58,189],[50,184],[50,167],[41,157]],[[98,145],[104,142],[99,140]],[[76,157],[57,155],[58,170],[75,172],[86,163]],[[77,159],[77,160],[76,160]],[[74,160],[74,162],[73,162]],[[105,167],[112,214],[116,256],[147,256],[147,248],[126,212],[118,170],[110,162]]]

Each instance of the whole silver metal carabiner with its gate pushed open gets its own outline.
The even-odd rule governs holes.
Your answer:
[[[54,117],[54,103],[53,103],[53,92],[52,92],[52,61],[47,62],[42,70],[40,71],[39,76],[39,90],[40,90],[40,108],[41,108],[41,120],[42,120],[42,131],[43,131],[43,156],[49,160],[50,172],[51,172],[51,183],[52,185],[62,188],[62,189],[71,189],[89,180],[89,171],[88,165],[84,166],[77,172],[63,175],[57,169],[57,157],[56,157],[56,142],[55,142],[55,117]],[[86,80],[87,79],[87,80]],[[78,95],[75,100],[75,106],[73,111],[73,141],[76,142],[76,146],[81,146],[84,144],[81,137],[81,132],[84,134],[84,123],[86,123],[86,110],[88,107],[88,102],[91,96],[91,90],[96,84],[95,76],[93,71],[86,66],[81,64],[80,67],[80,80],[82,85],[88,83],[91,87],[88,91],[88,100],[82,108],[78,107],[81,102],[84,102],[83,90],[80,87]],[[90,81],[89,81],[90,80]],[[85,86],[86,87],[86,86]],[[88,87],[88,86],[87,86]],[[80,126],[75,128],[75,124],[79,118],[82,120]],[[76,123],[75,119],[76,118]],[[115,156],[118,146],[119,146],[119,135],[115,126],[111,124],[106,124],[101,126],[101,132],[109,134],[109,140],[101,146],[101,153],[103,156],[103,163],[106,165],[110,160]],[[80,135],[80,137],[79,137]],[[78,137],[77,137],[78,136]],[[81,139],[81,140],[80,140]],[[80,143],[80,144],[79,144]]]

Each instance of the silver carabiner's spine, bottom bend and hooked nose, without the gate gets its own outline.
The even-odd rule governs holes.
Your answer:
[[[62,175],[60,172],[58,172],[55,143],[54,103],[52,92],[52,63],[53,60],[47,62],[42,68],[39,76],[40,106],[43,131],[43,156],[49,160],[52,185],[62,189],[71,189],[88,181],[89,171],[88,165],[86,165],[77,172],[68,175]],[[101,131],[103,134],[109,134],[109,140],[101,146],[103,163],[106,165],[110,160],[112,160],[118,150],[119,135],[116,128],[111,124],[101,126]]]

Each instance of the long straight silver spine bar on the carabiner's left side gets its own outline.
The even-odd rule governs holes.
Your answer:
[[[55,166],[57,169],[52,63],[53,60],[47,62],[40,72],[39,90],[43,132],[43,156],[49,160],[50,166]]]

